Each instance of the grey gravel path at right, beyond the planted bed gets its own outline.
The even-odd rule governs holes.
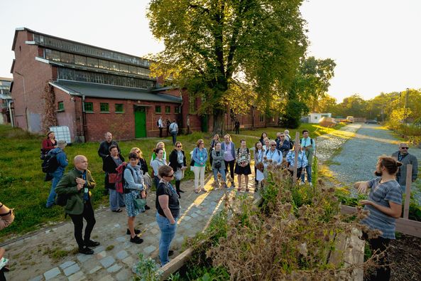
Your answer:
[[[391,155],[398,150],[399,143],[390,130],[375,124],[361,124],[354,137],[345,142],[341,146],[341,152],[331,159],[329,169],[345,185],[367,181],[373,178],[378,157],[382,154]],[[409,153],[420,161],[421,149],[410,147]]]

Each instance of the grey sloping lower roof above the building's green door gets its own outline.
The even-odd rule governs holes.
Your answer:
[[[148,90],[138,88],[85,83],[70,80],[58,80],[50,82],[50,85],[64,92],[67,92],[69,95],[84,95],[86,97],[102,97],[122,100],[141,100],[147,102],[182,102],[181,97],[174,97],[173,95],[165,95],[162,93],[153,93],[149,92]]]

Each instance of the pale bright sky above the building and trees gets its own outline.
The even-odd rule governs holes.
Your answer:
[[[143,56],[163,50],[149,31],[149,0],[0,0],[0,77],[11,78],[17,27]],[[421,88],[420,0],[309,0],[308,55],[337,63],[329,95]]]

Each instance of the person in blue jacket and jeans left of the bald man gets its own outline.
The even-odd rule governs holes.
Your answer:
[[[57,159],[58,163],[58,168],[55,171],[53,171],[53,173],[51,173],[51,176],[53,176],[53,182],[51,184],[50,195],[48,196],[47,203],[45,204],[45,207],[47,208],[51,208],[55,204],[55,186],[57,186],[58,182],[60,181],[65,172],[66,166],[69,164],[69,162],[67,161],[67,155],[65,154],[64,150],[66,145],[66,141],[60,139],[57,142],[57,147],[48,152],[48,154],[52,157],[53,155],[55,155],[55,158]]]

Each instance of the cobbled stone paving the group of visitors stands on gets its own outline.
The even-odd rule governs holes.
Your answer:
[[[252,169],[253,171],[254,169]],[[253,194],[253,175],[250,176],[249,188]],[[182,181],[180,204],[182,214],[178,220],[177,233],[172,249],[175,258],[180,254],[181,246],[186,237],[204,230],[212,214],[219,211],[224,204],[220,201],[224,192],[213,191],[213,176],[207,176],[205,189],[210,192],[195,193],[193,181]],[[230,193],[236,190],[228,189]],[[244,192],[241,192],[244,193]],[[148,205],[155,206],[155,194],[148,196]],[[101,245],[93,248],[94,255],[72,254],[77,247],[73,237],[71,221],[52,229],[41,230],[38,234],[6,245],[6,251],[11,260],[11,272],[6,273],[7,280],[130,280],[131,267],[142,253],[146,258],[156,258],[160,231],[155,221],[155,208],[141,213],[136,217],[135,226],[141,229],[140,245],[129,242],[126,235],[127,216],[125,212],[112,213],[108,208],[95,212],[97,223],[92,232],[92,240]],[[64,216],[64,214],[63,214]],[[45,254],[45,250],[63,250],[69,253],[59,260],[53,260]]]

